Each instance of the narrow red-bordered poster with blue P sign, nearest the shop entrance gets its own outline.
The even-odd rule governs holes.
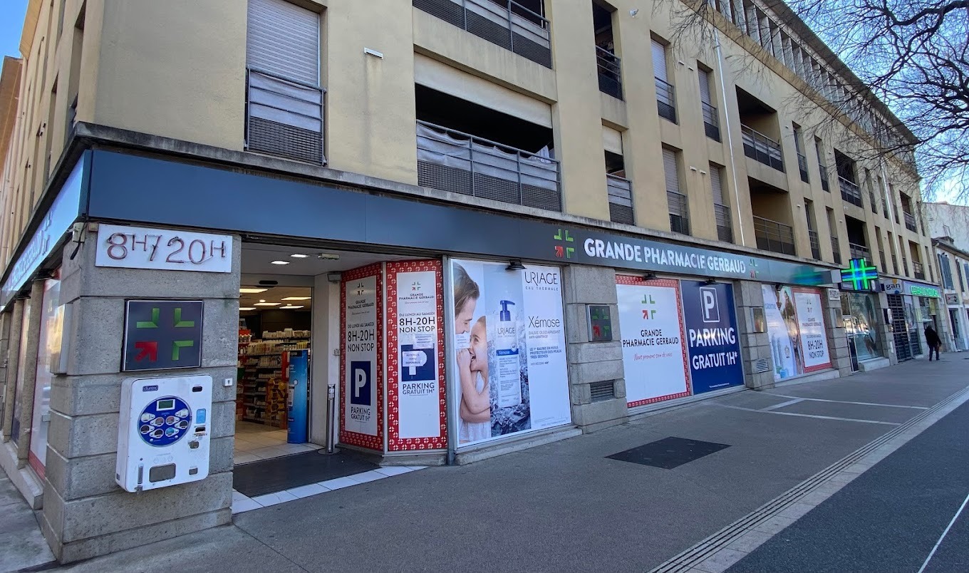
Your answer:
[[[343,273],[340,327],[343,410],[340,441],[383,450],[379,431],[382,380],[379,317],[381,315],[380,265]]]

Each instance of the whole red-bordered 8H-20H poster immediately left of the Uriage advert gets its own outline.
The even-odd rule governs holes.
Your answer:
[[[388,437],[391,451],[448,444],[440,261],[388,263]]]

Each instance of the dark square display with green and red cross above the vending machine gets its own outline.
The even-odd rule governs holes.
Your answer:
[[[202,366],[202,301],[128,301],[123,371]]]

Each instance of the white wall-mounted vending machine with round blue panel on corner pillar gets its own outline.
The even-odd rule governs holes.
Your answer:
[[[212,377],[128,378],[121,383],[115,480],[128,492],[208,475]]]

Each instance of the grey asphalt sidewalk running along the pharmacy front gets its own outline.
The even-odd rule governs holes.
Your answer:
[[[68,570],[644,571],[963,390],[969,363],[945,358],[704,400],[249,511]],[[617,458],[675,467],[608,458],[671,437],[684,439]],[[719,449],[687,461],[703,447]]]

